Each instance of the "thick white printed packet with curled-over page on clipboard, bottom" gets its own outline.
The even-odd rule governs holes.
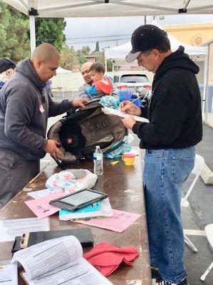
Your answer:
[[[19,261],[29,285],[112,285],[83,258],[76,237],[51,239],[22,249],[11,262]]]

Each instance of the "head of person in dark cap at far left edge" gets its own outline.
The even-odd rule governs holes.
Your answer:
[[[8,58],[0,58],[0,89],[14,75],[16,64]]]

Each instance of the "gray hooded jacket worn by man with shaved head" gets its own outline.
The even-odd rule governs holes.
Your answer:
[[[0,150],[15,152],[24,160],[44,155],[48,117],[72,108],[69,100],[55,103],[48,95],[31,61],[26,58],[0,93]]]

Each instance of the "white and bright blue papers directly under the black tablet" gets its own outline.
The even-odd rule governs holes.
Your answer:
[[[112,217],[113,210],[108,198],[103,199],[101,202],[93,204],[78,211],[67,211],[61,209],[59,211],[59,219],[61,221],[77,221],[80,219],[90,219],[91,217]]]

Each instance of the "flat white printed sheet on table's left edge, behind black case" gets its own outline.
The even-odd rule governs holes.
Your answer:
[[[49,219],[7,219],[0,221],[0,242],[11,242],[25,232],[49,231]]]

